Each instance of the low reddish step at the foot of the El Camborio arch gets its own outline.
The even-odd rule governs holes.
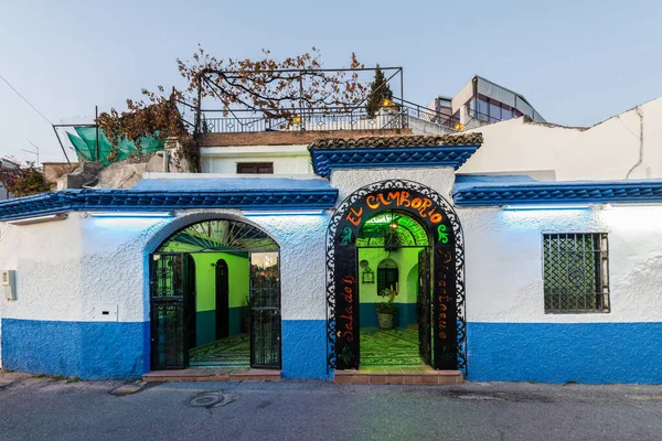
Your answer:
[[[435,370],[431,367],[383,367],[359,370],[335,370],[339,385],[460,385],[460,370]]]

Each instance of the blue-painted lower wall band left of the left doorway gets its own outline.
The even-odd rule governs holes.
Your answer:
[[[149,322],[2,319],[2,367],[82,379],[149,372]]]

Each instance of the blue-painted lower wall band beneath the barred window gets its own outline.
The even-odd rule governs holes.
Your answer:
[[[467,323],[472,381],[661,384],[662,323]]]

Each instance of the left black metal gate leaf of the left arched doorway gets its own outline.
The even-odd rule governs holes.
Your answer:
[[[152,369],[182,369],[188,365],[191,261],[185,254],[154,254],[150,258]]]

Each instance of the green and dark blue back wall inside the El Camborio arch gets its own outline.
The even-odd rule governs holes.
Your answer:
[[[361,301],[361,326],[376,327],[377,316],[375,304],[382,303],[387,298],[377,295],[377,267],[382,260],[392,259],[398,269],[398,295],[393,303],[397,305],[395,316],[398,327],[416,324],[417,295],[418,295],[418,252],[423,247],[401,248],[386,251],[383,248],[359,248],[359,261],[367,260],[374,273],[374,283],[363,283],[363,268],[359,271],[359,299]]]

